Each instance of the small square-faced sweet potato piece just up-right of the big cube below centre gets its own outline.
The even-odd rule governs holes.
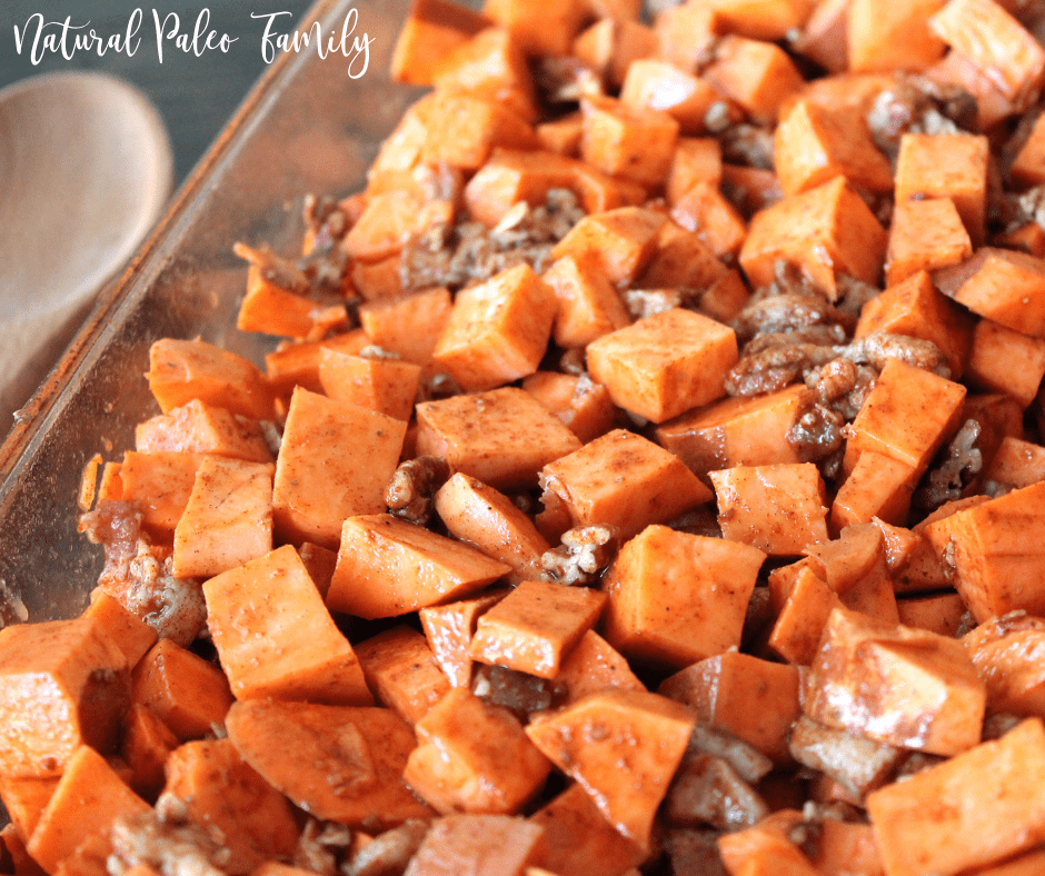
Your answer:
[[[812,462],[737,466],[710,471],[723,537],[772,557],[827,541],[824,481]]]

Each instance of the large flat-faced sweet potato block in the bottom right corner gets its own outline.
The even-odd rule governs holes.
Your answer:
[[[886,873],[953,876],[1034,847],[1045,838],[1043,778],[1045,731],[1041,720],[1025,720],[996,741],[869,794]]]

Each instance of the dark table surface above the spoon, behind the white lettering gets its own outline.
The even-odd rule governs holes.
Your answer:
[[[211,0],[209,3],[187,0],[157,0],[142,4],[140,0],[0,0],[0,88],[28,76],[52,71],[102,70],[127,79],[138,86],[159,108],[171,138],[175,155],[175,183],[179,185],[192,169],[218,131],[266,68],[262,58],[262,34],[266,19],[252,19],[251,12],[269,14],[289,12],[275,21],[275,28],[291,31],[310,6],[310,0],[271,0],[270,3],[247,3],[243,0]],[[64,21],[72,26],[90,22],[80,33],[91,28],[109,39],[122,36],[128,29],[135,9],[142,12],[138,29],[140,40],[132,57],[109,49],[101,57],[84,49],[72,52],[68,59],[53,51],[43,52],[39,63],[30,57],[31,40],[36,33],[36,13],[46,22]],[[173,38],[163,40],[163,60],[157,51],[156,23],[152,10],[166,22],[165,33],[175,24],[177,16],[180,32],[191,43],[193,30],[203,9],[209,10],[209,28],[216,31],[212,42],[221,34],[236,38],[228,51],[203,51],[197,56],[186,53]],[[14,39],[14,27],[28,33],[21,52]],[[44,34],[60,36],[58,27],[49,27]],[[70,39],[70,46],[72,41]],[[199,43],[198,43],[199,44]]]

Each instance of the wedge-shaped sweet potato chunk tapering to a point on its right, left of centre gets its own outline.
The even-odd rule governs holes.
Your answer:
[[[391,515],[349,517],[327,606],[368,620],[400,617],[478,593],[510,570],[475,548]]]

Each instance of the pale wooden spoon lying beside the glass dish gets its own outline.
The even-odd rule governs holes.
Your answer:
[[[159,113],[127,82],[73,72],[0,90],[0,436],[60,354],[48,345],[64,330],[64,346],[156,221],[172,171]]]

